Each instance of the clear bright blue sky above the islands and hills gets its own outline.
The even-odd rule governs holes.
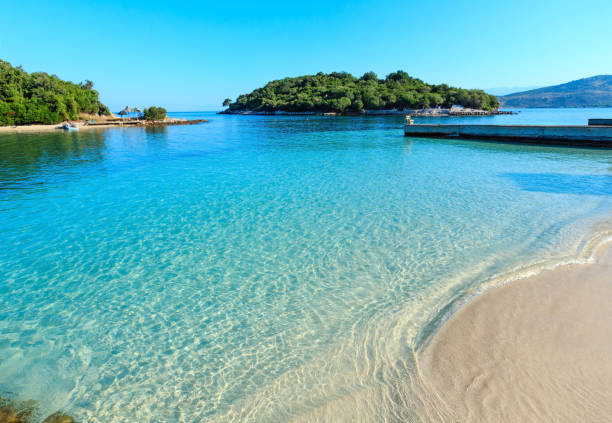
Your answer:
[[[217,110],[267,81],[402,69],[465,88],[612,73],[612,1],[6,1],[0,58],[112,110]]]

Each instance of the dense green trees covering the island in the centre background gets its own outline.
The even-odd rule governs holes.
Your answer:
[[[229,105],[229,111],[344,113],[453,104],[485,110],[499,106],[497,97],[482,90],[426,84],[403,71],[393,72],[385,79],[378,79],[374,72],[367,72],[361,78],[345,72],[319,72],[269,82],[263,88],[239,96]]]

